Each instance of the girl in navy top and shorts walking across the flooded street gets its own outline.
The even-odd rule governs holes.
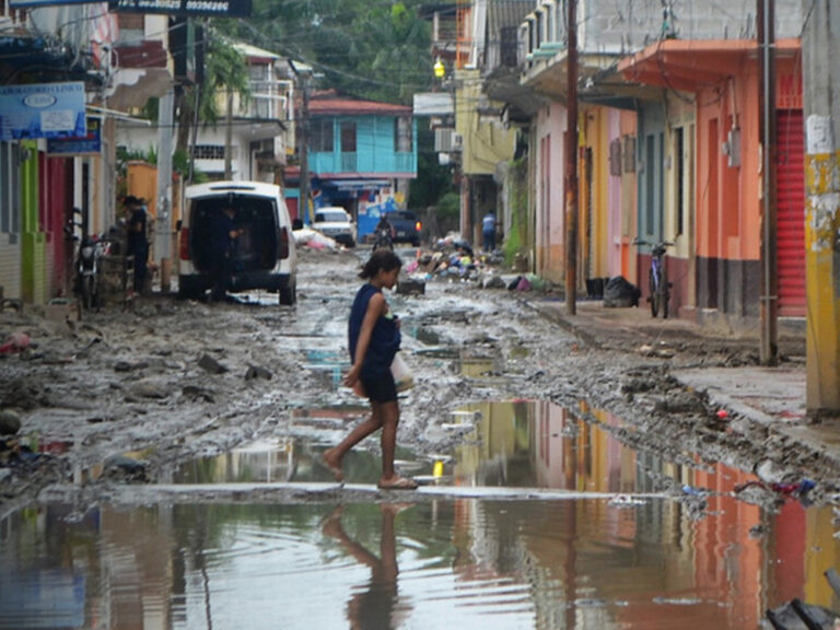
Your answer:
[[[348,343],[352,366],[345,377],[345,385],[353,387],[361,383],[364,396],[371,401],[371,417],[357,425],[338,446],[324,453],[324,463],[336,481],[342,481],[345,477],[341,471],[345,454],[382,429],[382,477],[378,487],[388,490],[417,488],[416,481],[399,477],[394,470],[399,404],[390,364],[399,350],[401,336],[399,319],[388,307],[382,289],[394,288],[401,267],[402,261],[394,252],[377,249],[359,273],[368,282],[359,289],[350,310]]]

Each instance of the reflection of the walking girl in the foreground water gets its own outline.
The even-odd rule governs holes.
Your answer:
[[[350,538],[341,525],[343,506],[336,508],[324,523],[323,532],[335,538],[357,562],[371,568],[371,581],[363,592],[357,592],[347,603],[350,628],[390,630],[396,628],[410,607],[399,603],[397,593],[397,545],[394,517],[407,509],[405,504],[381,503],[382,538],[380,558]],[[354,590],[355,591],[355,590]]]

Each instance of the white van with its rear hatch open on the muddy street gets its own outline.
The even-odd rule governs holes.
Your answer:
[[[236,209],[237,238],[229,291],[267,289],[280,304],[298,300],[298,256],[282,189],[261,182],[213,182],[188,186],[179,230],[178,294],[198,298],[211,289],[218,268],[219,218]]]

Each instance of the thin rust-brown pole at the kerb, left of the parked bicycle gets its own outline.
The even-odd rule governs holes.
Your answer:
[[[567,16],[565,103],[565,312],[578,313],[578,18],[576,0]]]

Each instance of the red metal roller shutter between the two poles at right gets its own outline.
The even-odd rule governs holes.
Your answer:
[[[779,316],[805,317],[805,132],[801,109],[777,117]]]

